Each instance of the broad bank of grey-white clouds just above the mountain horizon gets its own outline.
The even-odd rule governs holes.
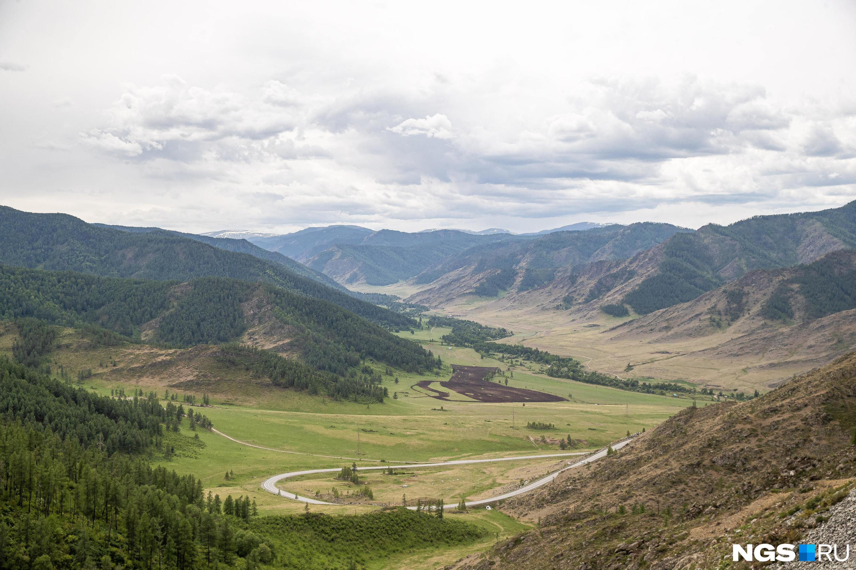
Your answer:
[[[207,178],[252,195],[259,215],[312,223],[717,207],[841,187],[856,169],[835,157],[841,116],[819,107],[805,117],[758,86],[694,76],[591,80],[562,113],[517,129],[503,116],[454,129],[443,113],[401,120],[428,104],[395,91],[305,95],[267,80],[238,92],[167,76],[129,86],[110,121],[80,140],[146,162],[146,176]]]

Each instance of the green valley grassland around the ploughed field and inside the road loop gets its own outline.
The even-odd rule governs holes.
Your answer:
[[[218,360],[212,352],[216,347],[186,350],[132,344],[102,347],[79,331],[65,329],[59,347],[51,353],[51,366],[54,374],[62,365],[73,377],[76,371],[92,368],[93,375],[86,379],[84,387],[104,395],[116,389],[124,389],[128,394],[134,389],[146,393],[155,390],[160,397],[165,390],[198,398],[203,393],[209,394],[211,407],[199,412],[211,418],[217,430],[241,442],[282,452],[253,448],[210,431],[194,433],[187,429],[185,420],[180,433],[169,434],[168,442],[175,447],[175,456],[169,461],[157,456],[153,460],[180,473],[193,472],[206,490],[221,497],[250,496],[262,514],[296,514],[304,508],[300,503],[261,490],[260,484],[270,475],[351,462],[318,455],[357,458],[363,465],[383,465],[377,460],[437,461],[556,453],[556,444],[542,442],[542,435],[554,441],[563,436],[580,440],[576,450],[599,448],[627,431],[651,428],[690,404],[678,398],[550,378],[539,373],[538,365],[532,363],[483,359],[472,349],[449,349],[439,343],[447,332],[448,329],[440,328],[419,330],[413,335],[402,332],[401,336],[421,341],[439,355],[443,370],[436,376],[392,371],[391,375],[383,376],[390,397],[383,404],[368,406],[276,388],[265,378],[253,378],[249,372]],[[15,335],[13,326],[0,326],[0,353],[10,352]],[[448,379],[452,364],[498,366],[509,376],[513,374],[508,377],[510,386],[543,390],[570,400],[525,406],[452,402],[439,401],[410,388],[419,380]],[[385,367],[375,366],[385,371]],[[527,422],[535,421],[554,424],[557,429],[545,432],[526,428]],[[294,453],[283,453],[286,451]],[[368,478],[375,493],[374,504],[324,505],[312,510],[360,514],[377,509],[384,502],[401,502],[403,492],[414,499],[419,496],[449,500],[461,496],[484,498],[510,490],[521,478],[543,475],[556,466],[555,459],[544,459],[437,467],[413,470],[407,475],[372,473]],[[234,473],[234,477],[226,478],[227,471]],[[408,486],[401,486],[405,484]],[[330,492],[336,485],[348,489],[346,484],[336,484],[329,477],[289,480],[282,485],[283,489],[300,493],[309,489],[312,494],[315,490]],[[497,534],[466,547],[400,555],[378,567],[443,567],[463,555],[484,550],[497,535],[508,537],[526,528],[496,511],[477,510],[449,516],[465,518]]]

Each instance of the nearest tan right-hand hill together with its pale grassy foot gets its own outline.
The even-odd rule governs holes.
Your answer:
[[[518,333],[503,342],[574,356],[591,370],[622,378],[765,391],[856,349],[853,291],[844,290],[854,272],[856,253],[832,252],[813,264],[752,271],[687,303],[626,318],[610,317],[596,306],[557,309],[549,288],[526,293],[530,299],[542,295],[537,306],[508,294],[481,305],[449,306],[446,312]],[[592,277],[580,276],[578,282],[588,287]],[[787,300],[790,317],[764,313],[773,294]]]

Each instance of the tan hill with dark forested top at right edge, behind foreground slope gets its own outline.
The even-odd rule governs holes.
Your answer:
[[[832,252],[785,269],[754,270],[603,336],[615,346],[640,341],[656,346],[668,353],[670,365],[683,364],[685,370],[702,359],[722,369],[742,368],[742,375],[757,378],[810,370],[856,349],[856,252]],[[633,361],[633,375],[659,373],[657,359]]]

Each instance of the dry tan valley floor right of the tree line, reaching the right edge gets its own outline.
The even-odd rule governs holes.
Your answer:
[[[373,288],[377,292],[382,288]],[[390,285],[386,293],[407,290]],[[847,353],[856,338],[853,315],[847,322],[817,323],[812,327],[782,325],[782,331],[755,335],[746,330],[711,327],[705,335],[663,338],[663,332],[616,329],[638,315],[615,318],[597,311],[556,309],[555,303],[518,305],[512,295],[484,299],[466,295],[437,314],[465,318],[487,326],[514,331],[499,342],[520,343],[561,356],[573,356],[594,371],[621,378],[687,381],[728,392],[765,392],[794,375],[824,365]],[[835,320],[834,318],[821,319]],[[832,331],[831,333],[829,331]],[[835,330],[843,331],[840,334]],[[847,331],[850,331],[849,333]],[[843,338],[841,337],[843,335]],[[840,347],[838,345],[841,345]],[[627,365],[633,368],[627,371]]]

